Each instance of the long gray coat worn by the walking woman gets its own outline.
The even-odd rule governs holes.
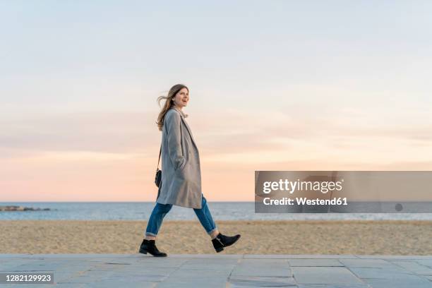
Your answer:
[[[201,208],[200,156],[184,114],[172,107],[162,127],[162,186],[156,202]]]

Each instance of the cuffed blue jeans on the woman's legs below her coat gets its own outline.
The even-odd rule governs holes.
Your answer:
[[[148,220],[147,229],[145,230],[146,236],[157,235],[157,232],[159,232],[159,229],[162,226],[162,221],[164,220],[165,215],[167,215],[171,208],[172,204],[156,203],[152,215],[150,215],[150,219]],[[212,215],[210,214],[210,210],[208,210],[207,200],[204,196],[202,196],[201,200],[201,209],[193,208],[193,211],[195,211],[198,220],[200,220],[207,234],[210,235],[217,229],[216,224],[212,219]]]

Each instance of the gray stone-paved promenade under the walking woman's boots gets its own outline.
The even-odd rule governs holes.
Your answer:
[[[31,287],[432,287],[432,256],[0,254],[23,271],[54,272]]]

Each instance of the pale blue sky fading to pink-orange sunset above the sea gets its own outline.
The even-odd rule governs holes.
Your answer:
[[[431,1],[2,1],[0,202],[153,201],[156,98],[209,201],[255,170],[431,170]]]

